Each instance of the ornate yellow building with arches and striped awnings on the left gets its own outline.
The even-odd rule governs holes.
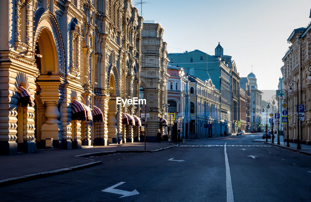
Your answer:
[[[4,0],[0,11],[1,154],[139,137],[122,119],[137,105],[116,105],[139,97],[143,19],[131,1]]]

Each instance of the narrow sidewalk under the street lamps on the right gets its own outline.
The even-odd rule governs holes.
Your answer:
[[[266,143],[266,144],[269,144],[269,145],[278,146],[278,147],[281,147],[283,149],[288,149],[288,150],[296,151],[296,152],[301,153],[301,154],[305,154],[305,155],[311,156],[311,145],[301,144],[301,149],[297,150],[297,143],[290,142],[290,146],[287,147],[286,146],[286,144],[287,144],[286,143],[286,139],[285,139],[285,142],[284,142],[283,141],[283,136],[281,136],[281,135],[280,135],[280,145],[277,144],[277,139],[276,138],[274,139],[274,143],[273,144],[271,143],[271,139],[268,139],[268,142],[266,142],[266,139],[256,139],[256,140],[253,140],[253,142],[263,142],[263,143]]]

